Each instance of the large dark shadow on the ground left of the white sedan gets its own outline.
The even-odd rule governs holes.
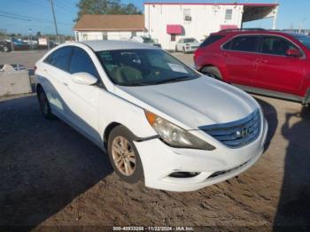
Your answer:
[[[112,174],[107,155],[35,96],[0,102],[0,225],[39,225]],[[78,215],[73,215],[78,217]]]

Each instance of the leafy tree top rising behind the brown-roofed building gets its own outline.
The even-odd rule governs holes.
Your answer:
[[[135,4],[121,4],[120,0],[80,0],[76,5],[79,12],[74,21],[83,14],[142,14]]]

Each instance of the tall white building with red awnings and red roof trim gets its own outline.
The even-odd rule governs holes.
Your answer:
[[[198,41],[210,33],[227,28],[241,28],[244,22],[273,17],[278,4],[191,4],[144,3],[144,22],[147,33],[163,49],[174,50],[182,37]]]

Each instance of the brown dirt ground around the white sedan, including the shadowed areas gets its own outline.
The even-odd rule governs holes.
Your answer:
[[[178,56],[190,62],[190,55]],[[27,62],[31,66],[33,61]],[[93,143],[60,120],[43,120],[35,96],[1,99],[0,225],[205,225],[230,230],[291,225],[306,231],[310,110],[256,98],[269,124],[264,156],[229,182],[188,193],[120,181]]]

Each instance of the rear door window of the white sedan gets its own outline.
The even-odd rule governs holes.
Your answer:
[[[44,59],[44,62],[50,66],[55,66],[63,71],[69,72],[71,54],[72,47],[60,48],[52,52],[48,58]]]

